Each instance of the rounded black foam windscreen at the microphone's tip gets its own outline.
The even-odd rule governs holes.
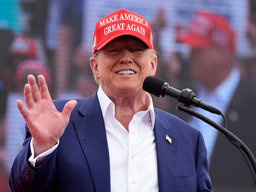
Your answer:
[[[159,97],[162,85],[164,83],[165,83],[165,81],[162,79],[148,76],[145,78],[142,88],[144,91],[147,91],[147,92]]]

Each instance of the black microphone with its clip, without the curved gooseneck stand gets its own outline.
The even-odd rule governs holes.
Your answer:
[[[165,82],[162,79],[155,78],[155,77],[146,77],[142,88],[144,91],[147,91],[157,97],[170,97],[173,99],[178,100],[178,102],[184,104],[186,107],[190,107],[190,105],[193,105],[195,107],[200,107],[206,111],[209,111],[213,114],[221,115],[222,112],[217,109],[216,107],[213,107],[200,99],[195,97],[194,92],[189,89],[183,89],[182,91],[171,87],[167,82]]]

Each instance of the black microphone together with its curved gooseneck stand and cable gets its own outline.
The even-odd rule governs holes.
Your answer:
[[[213,107],[207,103],[204,103],[200,99],[195,97],[195,94],[193,91],[189,88],[183,89],[182,91],[171,87],[167,82],[165,82],[162,79],[158,79],[155,77],[146,77],[142,88],[144,91],[147,91],[157,97],[170,97],[175,100],[178,100],[177,109],[180,111],[183,111],[191,116],[197,117],[200,120],[203,120],[205,123],[209,124],[210,126],[213,126],[215,129],[217,129],[219,132],[223,133],[226,138],[231,142],[236,148],[239,149],[240,152],[242,152],[242,155],[245,158],[245,161],[251,171],[252,177],[254,179],[254,183],[256,185],[256,178],[254,174],[256,174],[256,160],[253,156],[250,149],[233,133],[228,131],[226,129],[226,117],[222,112],[217,109],[216,107]],[[189,108],[190,105],[193,105],[195,107],[200,107],[206,111],[209,111],[210,113],[221,115],[224,119],[225,128],[219,125],[218,123],[214,122],[213,120],[209,119],[208,117],[205,117],[203,114],[198,113],[197,111]],[[248,159],[245,157],[244,153],[247,155],[248,159],[251,162],[251,165],[254,169],[254,173],[252,171],[252,168],[250,164],[248,163]]]

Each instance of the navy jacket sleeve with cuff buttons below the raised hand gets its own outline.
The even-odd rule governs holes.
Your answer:
[[[27,127],[26,127],[27,130]],[[55,149],[44,161],[33,167],[28,158],[31,136],[27,131],[24,148],[19,152],[11,168],[9,185],[11,191],[50,191],[55,177]]]

